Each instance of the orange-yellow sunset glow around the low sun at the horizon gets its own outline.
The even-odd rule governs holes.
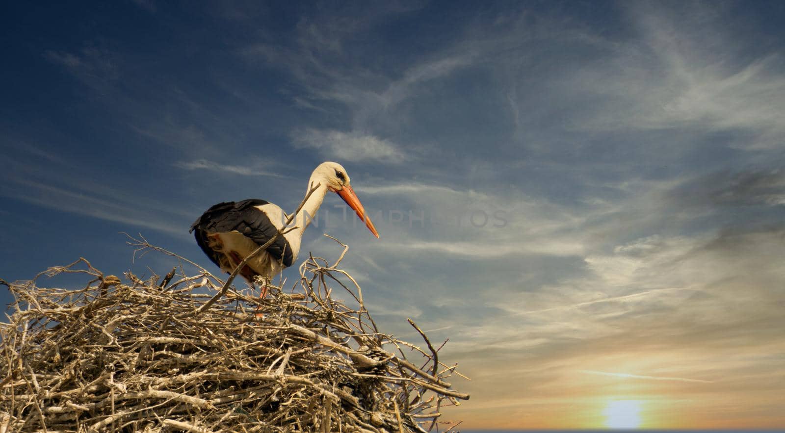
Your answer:
[[[444,408],[445,420],[462,420],[462,428],[508,430],[723,430],[782,428],[785,417],[747,417],[740,405],[765,406],[771,395],[740,399],[725,394],[728,385],[707,375],[686,375],[664,369],[674,358],[647,353],[599,356],[576,360],[583,368],[562,367],[558,373],[521,369],[526,378],[552,377],[507,398],[495,395],[509,377],[473,377],[461,386],[471,400]],[[688,361],[685,353],[681,362]],[[678,359],[678,358],[677,358]],[[553,367],[555,370],[556,368]],[[677,373],[677,374],[675,374]],[[558,374],[558,375],[557,375]]]

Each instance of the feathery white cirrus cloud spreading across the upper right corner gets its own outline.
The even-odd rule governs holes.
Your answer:
[[[548,88],[550,100],[539,100],[524,89],[529,76],[509,78],[509,62],[491,64],[506,68],[498,73],[509,80],[519,126],[528,126],[540,114],[571,111],[564,132],[608,136],[673,131],[673,144],[652,146],[673,148],[674,155],[691,147],[685,140],[699,140],[708,132],[725,133],[725,145],[750,151],[781,145],[785,127],[777,113],[785,111],[785,102],[778,96],[785,93],[785,78],[779,53],[750,49],[743,38],[748,27],[741,21],[725,26],[723,13],[699,3],[662,8],[631,2],[621,9],[638,37],[619,41],[588,29],[581,36],[573,29],[560,42],[583,46],[596,53],[595,59],[554,53],[562,67],[531,68],[531,75],[551,75],[538,80]],[[531,32],[518,31],[531,42]],[[526,67],[531,65],[524,61],[513,69],[523,73]],[[521,133],[531,141],[539,136]]]

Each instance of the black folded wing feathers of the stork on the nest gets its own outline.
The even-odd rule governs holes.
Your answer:
[[[256,242],[257,245],[265,245],[278,232],[278,228],[268,215],[256,206],[266,205],[268,202],[251,198],[242,202],[224,202],[207,209],[194,224],[191,230],[194,232],[196,243],[204,251],[210,260],[219,267],[218,255],[208,246],[207,235],[210,233],[225,233],[228,231],[239,231],[241,234]],[[292,264],[292,249],[286,238],[279,236],[266,250],[276,260],[282,262],[283,266],[289,267]]]

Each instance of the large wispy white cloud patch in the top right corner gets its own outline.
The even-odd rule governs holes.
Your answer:
[[[736,147],[780,146],[785,78],[779,54],[743,55],[742,38],[717,31],[724,23],[706,10],[672,16],[650,6],[626,4],[641,38],[598,39],[597,61],[554,73],[559,86],[549,87],[550,97],[586,107],[571,118],[571,129],[681,129],[681,136],[736,130],[747,133]]]

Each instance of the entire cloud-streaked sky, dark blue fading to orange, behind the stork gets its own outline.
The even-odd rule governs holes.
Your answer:
[[[0,10],[0,277],[168,271],[119,231],[217,271],[204,209],[333,160],[382,238],[328,197],[303,249],[451,339],[467,427],[785,426],[782,2]]]

